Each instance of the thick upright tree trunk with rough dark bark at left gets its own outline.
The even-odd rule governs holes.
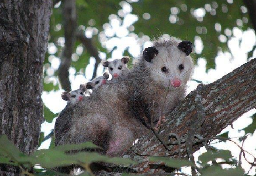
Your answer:
[[[0,134],[24,153],[38,147],[43,122],[43,62],[51,0],[0,1]],[[0,165],[0,175],[19,169]]]

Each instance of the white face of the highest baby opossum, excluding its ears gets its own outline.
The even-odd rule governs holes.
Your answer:
[[[126,70],[127,70],[126,64],[121,62],[121,59],[116,59],[114,61],[111,61],[108,65],[108,71],[113,76],[113,78],[122,76],[123,72],[126,72]]]

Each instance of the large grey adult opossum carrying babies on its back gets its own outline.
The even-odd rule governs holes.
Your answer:
[[[193,71],[191,52],[190,41],[154,41],[131,72],[66,109],[72,122],[62,143],[92,141],[108,156],[121,155],[147,133],[151,119],[157,122],[185,98]]]

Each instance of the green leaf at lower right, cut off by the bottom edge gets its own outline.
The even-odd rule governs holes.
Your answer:
[[[216,175],[224,175],[224,176],[242,176],[244,174],[244,170],[242,168],[236,167],[232,169],[222,169],[219,166],[211,166],[201,170],[201,176],[216,176]]]

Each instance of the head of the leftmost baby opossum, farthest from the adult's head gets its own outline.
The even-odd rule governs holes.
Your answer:
[[[78,101],[82,101],[85,98],[85,85],[81,84],[79,89],[71,92],[63,92],[61,97],[63,100],[68,101],[68,103],[75,104]]]

